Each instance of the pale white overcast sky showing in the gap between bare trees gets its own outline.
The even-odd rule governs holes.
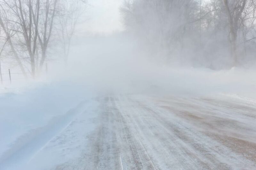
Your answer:
[[[88,0],[86,18],[79,32],[111,34],[122,31],[120,6],[124,0]]]

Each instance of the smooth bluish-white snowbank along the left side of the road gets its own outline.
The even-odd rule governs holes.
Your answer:
[[[0,169],[7,164],[20,166],[84,111],[85,99],[91,96],[84,86],[67,81],[4,90],[0,93]]]

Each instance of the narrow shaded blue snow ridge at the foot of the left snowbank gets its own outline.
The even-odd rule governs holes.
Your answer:
[[[63,131],[72,120],[82,111],[86,101],[76,108],[69,110],[65,115],[52,118],[44,127],[35,129],[17,139],[7,152],[0,157],[0,169],[23,169],[37,152],[47,145],[51,139]]]

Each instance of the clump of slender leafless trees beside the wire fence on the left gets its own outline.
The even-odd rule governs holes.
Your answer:
[[[71,38],[86,3],[86,0],[0,0],[0,26],[7,43],[1,42],[8,44],[24,74],[24,67],[29,64],[28,70],[35,77],[54,39],[61,39],[67,60]]]

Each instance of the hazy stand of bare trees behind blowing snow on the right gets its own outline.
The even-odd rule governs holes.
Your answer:
[[[255,4],[255,0],[127,0],[122,13],[127,31],[153,56],[221,69],[242,65],[247,51],[256,61]]]

